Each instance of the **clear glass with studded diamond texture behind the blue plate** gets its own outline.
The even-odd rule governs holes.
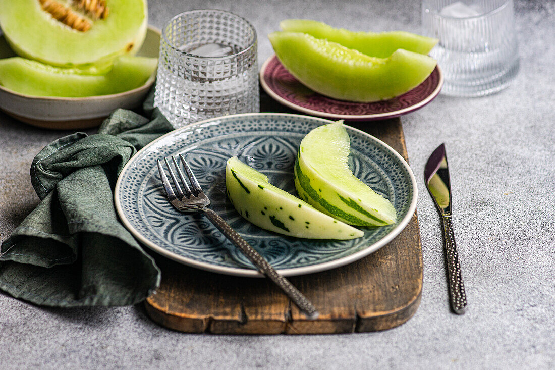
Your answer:
[[[258,112],[256,31],[220,10],[178,14],[162,31],[154,105],[181,127],[226,114]]]

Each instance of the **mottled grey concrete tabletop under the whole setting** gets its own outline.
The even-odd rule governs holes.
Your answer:
[[[223,8],[266,34],[284,18],[373,31],[418,31],[420,2],[149,0],[150,23]],[[416,315],[385,332],[327,336],[176,333],[140,307],[45,309],[0,294],[0,368],[555,368],[555,3],[518,1],[521,71],[485,98],[440,96],[402,118],[416,174],[424,282]],[[1,11],[1,9],[0,9]],[[0,235],[38,198],[34,155],[60,136],[0,113]],[[440,224],[424,188],[428,155],[445,142],[455,233],[469,308],[450,313]]]

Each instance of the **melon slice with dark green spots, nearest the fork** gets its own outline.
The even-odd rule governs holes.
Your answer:
[[[231,204],[249,222],[297,238],[354,239],[364,232],[327,216],[268,183],[268,177],[237,157],[228,159],[225,184]]]

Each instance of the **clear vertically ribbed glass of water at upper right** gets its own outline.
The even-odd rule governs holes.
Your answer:
[[[519,68],[512,0],[423,0],[426,36],[451,96],[485,96],[506,88]]]

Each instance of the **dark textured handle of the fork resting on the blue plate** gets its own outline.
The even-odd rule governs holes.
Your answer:
[[[260,255],[260,253],[256,252],[253,247],[250,246],[249,243],[245,241],[227,222],[224,221],[220,215],[210,208],[203,208],[201,209],[206,217],[210,219],[210,221],[221,231],[224,235],[238,247],[241,252],[245,254],[246,257],[250,259],[251,262],[254,263],[261,273],[265,274],[267,277],[270,278],[281,290],[287,295],[287,297],[291,298],[291,301],[299,307],[302,313],[306,315],[309,319],[316,319],[319,316],[318,311],[314,307],[314,305],[306,299],[306,297],[299,292],[299,289],[295,288],[289,280],[287,280],[284,276],[280,273],[275,271],[275,269]]]

